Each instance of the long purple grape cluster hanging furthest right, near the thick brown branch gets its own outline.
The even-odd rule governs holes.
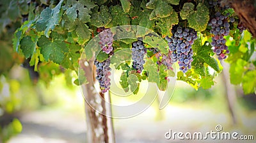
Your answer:
[[[229,50],[224,36],[227,36],[230,32],[228,14],[222,15],[220,12],[216,12],[209,20],[208,26],[211,26],[210,33],[213,34],[211,42],[213,52],[218,56],[219,60],[226,59]]]

